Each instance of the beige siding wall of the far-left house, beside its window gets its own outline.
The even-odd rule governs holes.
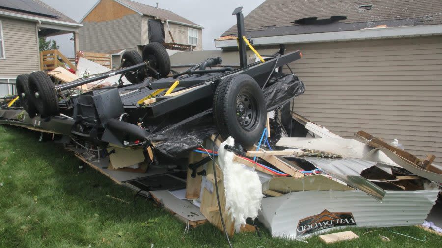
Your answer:
[[[40,70],[36,23],[0,18],[3,26],[5,59],[0,59],[0,78]]]

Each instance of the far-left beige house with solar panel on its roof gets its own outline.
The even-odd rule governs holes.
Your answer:
[[[73,33],[78,45],[81,26],[38,0],[0,0],[0,96],[15,94],[18,75],[40,70],[38,37]]]

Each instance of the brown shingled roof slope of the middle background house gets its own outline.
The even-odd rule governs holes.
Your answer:
[[[121,2],[127,6],[129,6],[130,8],[140,12],[143,15],[146,16],[151,16],[151,17],[155,17],[161,20],[169,20],[169,21],[173,21],[173,22],[177,22],[177,23],[182,23],[184,25],[192,25],[195,26],[197,28],[203,28],[202,26],[180,16],[177,15],[175,13],[173,13],[170,10],[166,10],[166,9],[161,9],[161,8],[156,8],[154,6],[150,6],[150,5],[146,5],[146,4],[142,4],[139,2],[135,2],[135,1],[130,1],[130,0],[117,0],[117,2]]]

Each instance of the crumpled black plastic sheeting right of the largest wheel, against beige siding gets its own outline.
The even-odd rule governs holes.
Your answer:
[[[272,78],[269,84],[270,86],[262,91],[268,111],[284,105],[284,103],[305,91],[304,83],[293,74]]]

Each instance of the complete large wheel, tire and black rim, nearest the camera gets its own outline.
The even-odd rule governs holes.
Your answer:
[[[222,138],[232,136],[246,146],[259,141],[267,110],[258,83],[246,74],[224,78],[215,90],[213,117]]]

